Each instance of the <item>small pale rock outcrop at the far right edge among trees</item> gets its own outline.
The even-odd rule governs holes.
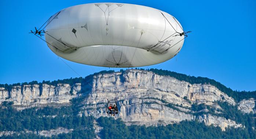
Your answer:
[[[243,113],[256,113],[255,109],[255,99],[243,99],[238,103],[238,110],[241,110]]]

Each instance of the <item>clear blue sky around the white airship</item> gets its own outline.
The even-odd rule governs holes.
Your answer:
[[[177,18],[183,29],[193,31],[179,55],[149,68],[208,77],[233,90],[256,90],[255,0],[1,0],[0,83],[78,77],[43,41],[28,32],[63,8],[99,2],[157,8]],[[65,62],[83,77],[109,70]]]

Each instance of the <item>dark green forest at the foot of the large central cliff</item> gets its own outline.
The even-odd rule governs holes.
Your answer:
[[[256,132],[247,129],[228,128],[222,132],[219,127],[206,126],[197,121],[182,121],[167,126],[145,127],[126,126],[121,119],[100,117],[97,119],[103,127],[100,131],[102,139],[255,139]]]

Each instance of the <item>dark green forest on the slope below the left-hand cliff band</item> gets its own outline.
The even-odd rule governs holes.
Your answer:
[[[12,108],[12,102],[4,102],[0,108],[0,131],[41,131],[64,127],[74,129],[72,133],[55,136],[56,139],[62,138],[95,138],[93,120],[94,117],[80,117],[80,101],[82,99],[73,99],[71,106],[62,106],[61,108],[44,107],[30,108],[17,111]],[[52,117],[54,116],[54,117]],[[38,138],[34,134],[15,134],[6,138]],[[44,137],[40,137],[44,138]]]

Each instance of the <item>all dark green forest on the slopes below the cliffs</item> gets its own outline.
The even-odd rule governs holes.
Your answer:
[[[92,121],[94,117],[78,116],[83,106],[83,97],[72,100],[72,105],[62,106],[60,108],[44,107],[44,108],[30,108],[22,111],[17,111],[12,108],[12,102],[4,102],[0,109],[0,131],[41,131],[56,129],[64,127],[67,129],[74,129],[68,134],[59,134],[52,136],[52,139],[90,139],[95,138],[96,135],[93,129]],[[153,99],[153,98],[148,98]],[[161,99],[157,99],[165,102]],[[245,128],[227,128],[225,132],[221,131],[219,127],[206,126],[198,121],[182,121],[179,124],[170,124],[167,126],[145,127],[138,125],[126,126],[121,119],[114,120],[113,118],[100,117],[97,119],[99,125],[103,127],[100,131],[100,137],[103,139],[118,138],[118,139],[168,139],[168,138],[238,138],[250,139],[256,138],[255,117],[256,114],[242,114],[237,110],[236,106],[228,105],[227,102],[217,102],[222,107],[222,113],[214,113],[214,108],[204,104],[193,104],[191,110],[200,111],[209,109],[209,112],[194,113],[196,115],[212,114],[216,116],[226,117],[226,119],[235,120],[237,123],[245,125]],[[168,105],[168,104],[167,104]],[[169,104],[171,108],[175,105]],[[168,106],[169,106],[168,105]],[[178,109],[177,109],[178,110]],[[191,113],[192,114],[192,113]],[[52,117],[56,116],[56,117]],[[44,136],[35,134],[19,134],[12,136],[3,136],[3,138],[19,138],[19,139],[50,139]]]

